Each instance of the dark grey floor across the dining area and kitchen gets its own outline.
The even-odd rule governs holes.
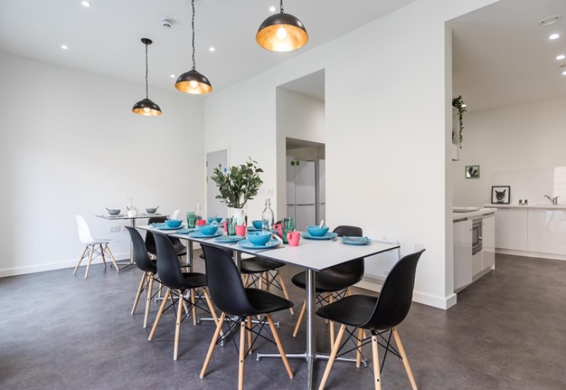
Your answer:
[[[202,268],[202,260],[196,267]],[[291,333],[304,292],[291,285],[298,272],[285,267],[296,314],[275,314],[287,352],[304,350],[304,327]],[[182,324],[180,355],[173,361],[174,314],[167,312],[153,341],[143,308],[130,315],[141,271],[72,269],[0,279],[0,389],[235,389],[233,344],[217,347],[200,379],[210,323]],[[413,304],[398,327],[419,389],[566,389],[566,262],[497,256],[497,269],[458,294],[444,311]],[[153,304],[153,321],[158,304]],[[318,350],[328,352],[328,326],[318,319]],[[275,352],[259,343],[256,350]],[[371,355],[369,348],[367,355]],[[383,356],[383,352],[381,352]],[[306,363],[246,359],[246,389],[305,389]],[[316,386],[325,362],[316,363]],[[403,364],[389,356],[383,389],[410,389]],[[326,389],[372,389],[369,369],[337,362]]]

